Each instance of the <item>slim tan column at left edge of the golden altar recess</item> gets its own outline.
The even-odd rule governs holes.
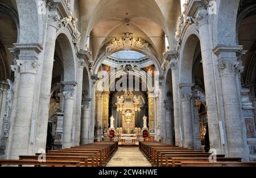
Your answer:
[[[102,95],[96,92],[96,138],[97,142],[101,141],[102,135]]]

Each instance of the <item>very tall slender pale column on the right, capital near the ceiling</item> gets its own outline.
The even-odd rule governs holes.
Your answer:
[[[199,35],[201,45],[201,56],[203,61],[205,100],[207,102],[207,117],[209,128],[210,148],[216,149],[218,154],[223,154],[221,146],[220,129],[218,125],[219,115],[217,106],[217,96],[215,88],[215,78],[213,71],[212,45],[208,23],[208,12],[204,8],[200,9],[196,16],[199,24]]]

